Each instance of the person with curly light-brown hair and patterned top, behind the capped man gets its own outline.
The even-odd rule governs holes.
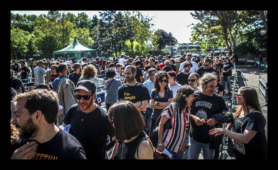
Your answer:
[[[98,74],[98,70],[95,68],[95,66],[93,66],[91,64],[87,65],[86,67],[83,68],[82,75],[78,81],[91,80],[91,81],[95,82],[97,88],[101,87],[103,84],[106,83],[106,81],[101,78],[96,77],[97,74]]]

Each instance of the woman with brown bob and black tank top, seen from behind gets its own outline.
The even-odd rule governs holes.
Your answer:
[[[116,150],[110,159],[154,159],[149,140],[143,140],[137,153],[139,141],[148,137],[143,131],[144,119],[138,108],[129,101],[119,101],[110,106],[108,118],[115,128]],[[138,155],[138,156],[137,156]]]

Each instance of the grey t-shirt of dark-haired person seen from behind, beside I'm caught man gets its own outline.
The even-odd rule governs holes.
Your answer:
[[[110,85],[110,83],[112,84]],[[109,86],[110,85],[110,86]],[[118,88],[122,85],[121,80],[114,79],[112,80],[107,80],[105,84],[105,89],[109,86],[108,90],[106,90],[105,94],[105,103],[107,104],[113,104],[117,101],[118,97]]]

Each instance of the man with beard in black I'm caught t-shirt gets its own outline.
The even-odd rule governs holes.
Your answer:
[[[140,61],[139,61],[140,62]],[[141,70],[139,70],[141,72]],[[117,100],[129,100],[138,107],[146,122],[146,113],[150,94],[146,85],[135,81],[137,69],[133,65],[128,65],[124,69],[124,77],[127,83],[118,88]]]

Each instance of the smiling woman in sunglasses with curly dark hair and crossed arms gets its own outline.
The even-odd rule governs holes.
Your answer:
[[[165,71],[158,71],[154,75],[154,89],[151,91],[150,107],[154,108],[151,116],[150,130],[157,121],[162,110],[173,100],[173,91],[169,88],[168,75]]]

